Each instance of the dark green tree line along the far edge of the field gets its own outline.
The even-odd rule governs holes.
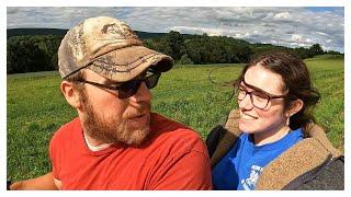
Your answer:
[[[57,50],[64,36],[12,36],[7,43],[7,73],[57,70]],[[226,36],[188,35],[171,31],[162,36],[143,39],[146,47],[171,56],[180,65],[245,63],[251,56],[271,49],[286,49],[301,58],[324,51],[319,44],[309,48],[287,48],[270,44],[250,44]]]

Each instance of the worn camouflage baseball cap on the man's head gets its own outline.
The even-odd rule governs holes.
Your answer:
[[[58,68],[63,79],[82,69],[116,82],[128,81],[148,67],[161,72],[174,60],[143,46],[132,28],[116,19],[87,19],[67,32],[58,49]]]

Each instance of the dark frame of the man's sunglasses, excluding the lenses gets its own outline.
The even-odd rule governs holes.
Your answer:
[[[150,76],[148,76],[148,77],[145,77],[145,78],[143,78],[143,79],[135,79],[135,80],[129,80],[129,81],[126,81],[126,82],[122,82],[118,86],[116,86],[116,85],[111,85],[111,84],[97,83],[97,82],[89,81],[89,80],[84,80],[84,79],[76,80],[76,82],[88,83],[88,84],[91,84],[91,85],[94,85],[94,86],[98,86],[98,88],[102,88],[102,89],[107,89],[107,90],[111,90],[111,91],[115,91],[115,92],[117,92],[118,99],[128,99],[128,97],[131,97],[131,96],[133,96],[133,95],[136,94],[136,92],[138,91],[138,89],[140,88],[140,84],[141,84],[143,82],[145,82],[146,86],[147,86],[149,90],[150,90],[150,89],[154,89],[154,88],[157,85],[158,80],[159,80],[160,77],[161,77],[161,72],[155,71],[155,70],[151,70],[151,69],[149,69],[149,70],[147,70],[147,71],[150,72],[150,73],[152,73],[152,74],[150,74]],[[156,78],[156,82],[155,82],[154,86],[148,86],[148,83],[146,82],[146,80],[148,80],[149,78],[151,78],[151,77],[154,77],[154,76],[157,77],[157,78]],[[136,90],[133,90],[133,94],[131,94],[131,95],[128,95],[128,96],[126,96],[126,97],[120,97],[120,95],[122,95],[122,94],[120,94],[120,90],[122,89],[122,86],[123,86],[124,84],[132,83],[132,82],[138,83],[138,85],[135,88]]]

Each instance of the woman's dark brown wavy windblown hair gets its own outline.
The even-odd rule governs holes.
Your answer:
[[[288,91],[284,99],[284,108],[288,108],[292,101],[297,99],[304,102],[303,108],[290,118],[290,127],[297,129],[305,127],[307,123],[315,121],[313,108],[320,99],[318,90],[312,86],[309,72],[304,61],[285,50],[271,50],[261,54],[249,61],[235,81],[237,90],[246,71],[250,67],[262,66],[263,68],[282,77],[284,86],[282,91]]]

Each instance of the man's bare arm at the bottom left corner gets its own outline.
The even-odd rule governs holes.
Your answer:
[[[54,178],[53,172],[43,176],[15,182],[10,186],[11,190],[57,190],[60,188],[60,182]]]

